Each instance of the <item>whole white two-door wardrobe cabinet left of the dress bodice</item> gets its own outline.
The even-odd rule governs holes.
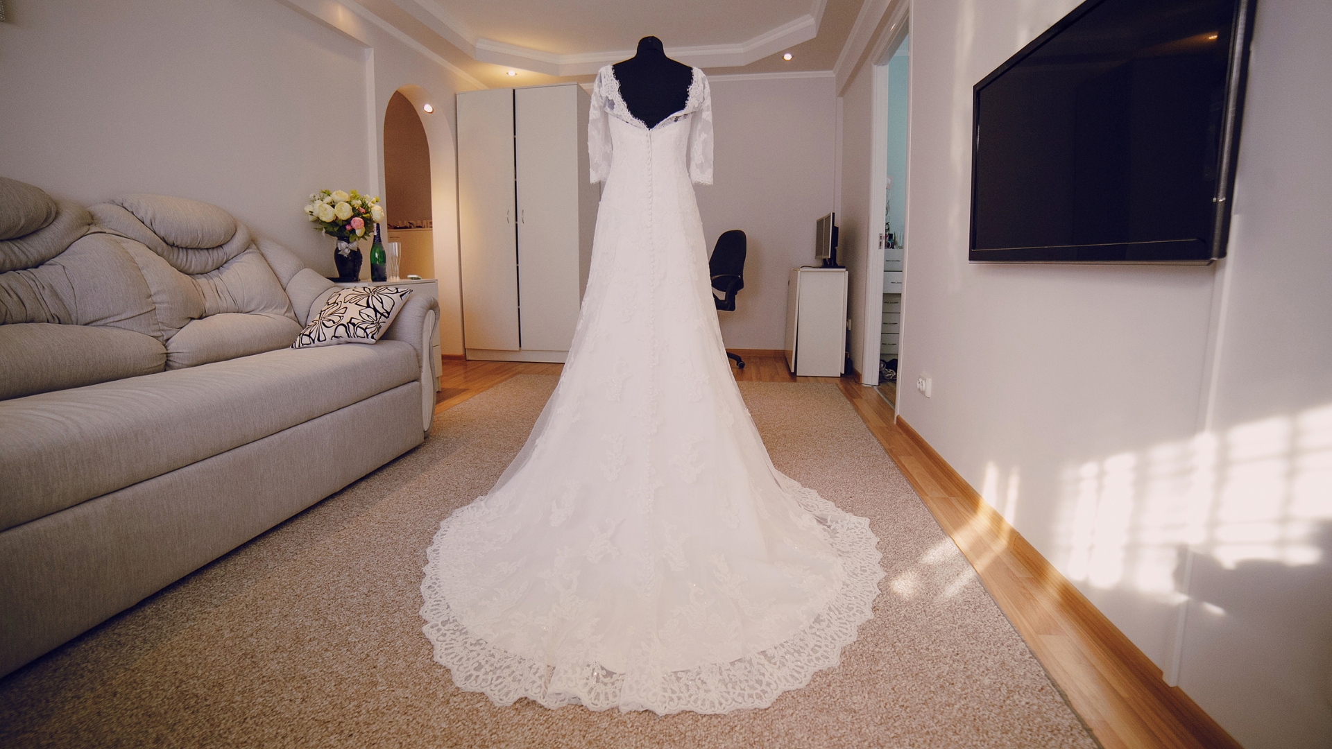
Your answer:
[[[458,240],[468,359],[563,361],[587,285],[599,191],[577,84],[458,95]]]

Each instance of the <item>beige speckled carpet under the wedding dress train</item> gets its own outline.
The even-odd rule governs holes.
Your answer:
[[[1095,746],[835,385],[743,382],[773,460],[872,521],[887,577],[838,668],[726,716],[496,708],[421,634],[440,520],[554,388],[519,376],[420,448],[0,681],[5,746]]]

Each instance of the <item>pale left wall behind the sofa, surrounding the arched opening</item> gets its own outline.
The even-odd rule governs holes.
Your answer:
[[[472,85],[333,0],[5,0],[5,11],[0,175],[56,197],[204,200],[333,275],[332,240],[301,205],[325,187],[381,193],[397,88],[442,104],[426,129],[452,168],[453,95]],[[452,176],[437,183],[452,207]],[[456,229],[436,227],[456,267]],[[444,349],[461,352],[457,279],[440,291]]]

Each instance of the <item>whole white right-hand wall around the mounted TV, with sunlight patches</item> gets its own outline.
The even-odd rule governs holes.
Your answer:
[[[1227,261],[970,264],[972,85],[1076,4],[912,4],[902,417],[1245,746],[1332,745],[1332,5],[1259,3]]]

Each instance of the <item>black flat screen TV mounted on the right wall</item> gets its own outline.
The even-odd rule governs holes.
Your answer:
[[[1225,256],[1255,0],[1087,0],[975,85],[972,261]]]

